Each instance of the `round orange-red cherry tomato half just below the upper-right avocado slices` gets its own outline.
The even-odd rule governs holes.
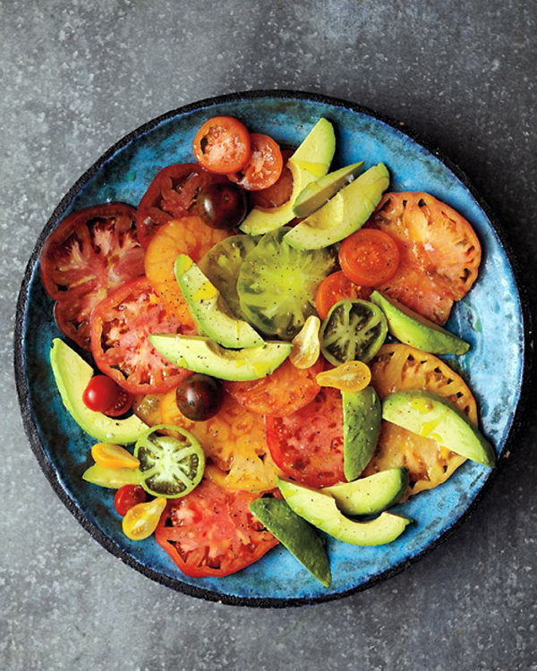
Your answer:
[[[339,265],[357,285],[378,286],[396,274],[399,248],[384,231],[362,228],[341,243]]]

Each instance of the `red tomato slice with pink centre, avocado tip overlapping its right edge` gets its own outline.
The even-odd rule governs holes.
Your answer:
[[[165,392],[191,373],[149,343],[150,333],[182,333],[183,322],[166,310],[146,277],[118,287],[91,316],[91,352],[105,375],[131,394]]]

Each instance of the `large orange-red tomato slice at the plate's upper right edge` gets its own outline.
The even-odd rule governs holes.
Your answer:
[[[404,191],[385,193],[366,226],[390,234],[401,254],[380,291],[444,324],[478,276],[482,252],[472,225],[429,193]]]

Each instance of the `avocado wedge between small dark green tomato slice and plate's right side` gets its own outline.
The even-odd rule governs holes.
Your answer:
[[[379,306],[388,321],[388,331],[401,343],[432,354],[465,354],[470,345],[393,298],[374,291],[370,301]]]

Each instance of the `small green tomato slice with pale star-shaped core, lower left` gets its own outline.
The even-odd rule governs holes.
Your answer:
[[[173,431],[167,436],[158,431]],[[140,484],[154,497],[179,498],[200,484],[205,454],[192,433],[169,424],[158,424],[136,441],[134,456],[140,461]]]

